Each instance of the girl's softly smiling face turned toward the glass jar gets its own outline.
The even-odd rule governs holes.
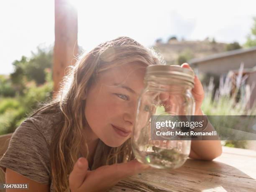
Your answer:
[[[131,137],[145,72],[138,63],[114,67],[88,90],[85,117],[95,138],[118,147]]]

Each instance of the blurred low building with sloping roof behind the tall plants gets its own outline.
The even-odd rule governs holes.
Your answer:
[[[256,47],[232,50],[202,58],[195,58],[188,62],[198,74],[227,74],[233,73],[233,78],[238,75],[238,69],[243,63],[243,76],[246,75],[246,85],[249,85],[251,97],[248,107],[256,102]]]

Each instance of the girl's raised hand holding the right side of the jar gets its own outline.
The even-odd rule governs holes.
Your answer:
[[[189,64],[187,64],[187,63],[183,63],[181,65],[181,67],[192,70],[191,67],[189,66]],[[201,81],[198,79],[198,77],[196,75],[195,75],[194,82],[195,82],[195,85],[194,85],[194,88],[192,89],[192,95],[194,96],[195,103],[196,103],[195,115],[203,115],[202,111],[201,111],[201,105],[202,105],[202,102],[205,97],[204,88],[202,86]]]

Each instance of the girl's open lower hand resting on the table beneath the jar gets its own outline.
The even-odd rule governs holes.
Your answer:
[[[135,175],[149,166],[132,160],[127,163],[105,165],[96,170],[89,171],[88,161],[80,157],[69,175],[69,188],[71,192],[103,192],[116,185],[119,180]]]

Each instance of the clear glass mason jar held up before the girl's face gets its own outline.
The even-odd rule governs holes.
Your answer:
[[[175,169],[187,160],[191,140],[151,140],[151,117],[194,115],[194,72],[179,65],[150,65],[138,99],[131,138],[136,159],[151,167]]]

